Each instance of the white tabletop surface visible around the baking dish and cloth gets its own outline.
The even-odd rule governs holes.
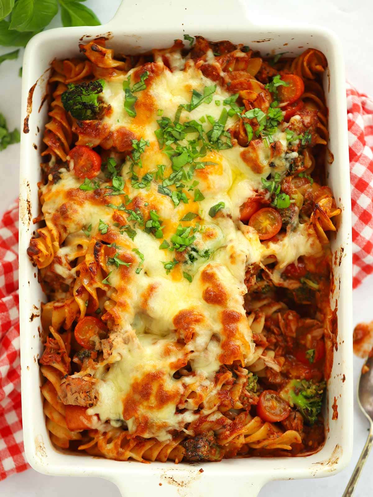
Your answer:
[[[155,0],[149,0],[155,1]],[[174,0],[177,1],[177,0]],[[334,30],[342,40],[347,78],[359,89],[373,94],[373,34],[372,34],[372,0],[262,0],[253,2],[246,0],[255,23],[283,22],[299,23],[304,21],[319,24]],[[102,22],[109,20],[114,14],[120,0],[88,0]],[[129,2],[130,3],[130,2]],[[229,4],[229,2],[228,2]],[[230,22],[234,23],[234,19]],[[60,25],[54,19],[53,26]],[[193,33],[190,33],[193,34]],[[11,49],[1,49],[0,54]],[[21,57],[17,61],[6,61],[0,66],[0,112],[8,121],[9,128],[19,125],[20,120],[20,87],[18,69]],[[0,212],[17,196],[19,146],[12,145],[0,153]],[[354,292],[354,326],[361,321],[373,319],[372,308],[373,276]],[[362,366],[362,360],[354,359],[355,385]],[[260,497],[285,497],[298,495],[302,497],[340,496],[350,478],[353,468],[364,446],[368,423],[355,405],[354,453],[350,465],[334,477],[317,480],[299,480],[271,482],[259,494]],[[361,477],[355,497],[369,497],[373,492],[373,454],[371,454]],[[0,483],[0,495],[17,497],[75,497],[89,495],[101,497],[119,496],[119,491],[110,482],[96,478],[50,477],[28,470],[13,475]]]

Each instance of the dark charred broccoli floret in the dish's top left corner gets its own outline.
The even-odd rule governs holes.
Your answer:
[[[96,119],[100,110],[97,96],[102,92],[104,84],[104,80],[79,84],[70,83],[67,86],[68,89],[61,95],[62,105],[65,110],[80,121]]]

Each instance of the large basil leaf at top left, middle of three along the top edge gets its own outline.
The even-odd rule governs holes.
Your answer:
[[[18,0],[11,13],[9,29],[38,31],[58,12],[57,0]]]

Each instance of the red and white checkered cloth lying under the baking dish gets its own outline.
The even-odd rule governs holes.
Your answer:
[[[348,84],[347,108],[356,288],[373,273],[373,100]],[[22,441],[17,244],[14,203],[0,222],[0,480],[29,467]]]

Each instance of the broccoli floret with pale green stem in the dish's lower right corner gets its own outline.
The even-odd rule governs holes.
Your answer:
[[[291,380],[280,391],[280,397],[302,414],[308,424],[314,424],[321,413],[325,382],[313,383],[307,380]]]

